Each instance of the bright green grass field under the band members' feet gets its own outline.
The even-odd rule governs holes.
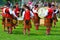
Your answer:
[[[60,21],[57,22],[56,28],[52,27],[51,34],[46,35],[46,27],[40,26],[39,30],[35,30],[32,25],[30,35],[23,35],[23,24],[20,24],[13,30],[12,34],[3,31],[0,20],[0,40],[60,40]]]

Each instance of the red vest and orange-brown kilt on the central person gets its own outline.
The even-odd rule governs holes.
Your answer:
[[[26,20],[28,20],[28,24],[26,24]],[[31,28],[31,21],[30,21],[30,11],[27,10],[25,11],[25,14],[24,14],[24,29],[30,29]]]

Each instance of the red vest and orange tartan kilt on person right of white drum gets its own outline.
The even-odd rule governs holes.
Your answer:
[[[45,21],[44,21],[44,25],[46,27],[52,27],[52,14],[53,14],[53,10],[51,8],[48,9],[48,15],[46,16],[45,18]]]

